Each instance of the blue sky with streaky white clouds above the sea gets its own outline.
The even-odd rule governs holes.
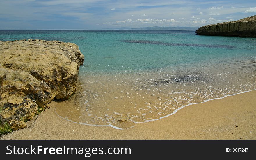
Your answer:
[[[253,15],[255,0],[0,0],[0,30],[200,27]]]

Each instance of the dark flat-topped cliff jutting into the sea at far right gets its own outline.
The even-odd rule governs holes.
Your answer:
[[[202,26],[195,33],[210,36],[256,37],[256,15],[238,21]]]

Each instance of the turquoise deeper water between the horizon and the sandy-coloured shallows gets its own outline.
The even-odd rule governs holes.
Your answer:
[[[256,50],[254,38],[198,36],[194,31],[0,31],[0,40],[16,39],[44,39],[76,43],[85,55],[85,63],[80,70],[92,72],[143,70],[189,63],[208,63],[208,61],[225,58],[255,56]],[[134,40],[139,40],[141,43],[129,42]],[[152,41],[159,41],[159,43],[152,44],[150,43]]]

